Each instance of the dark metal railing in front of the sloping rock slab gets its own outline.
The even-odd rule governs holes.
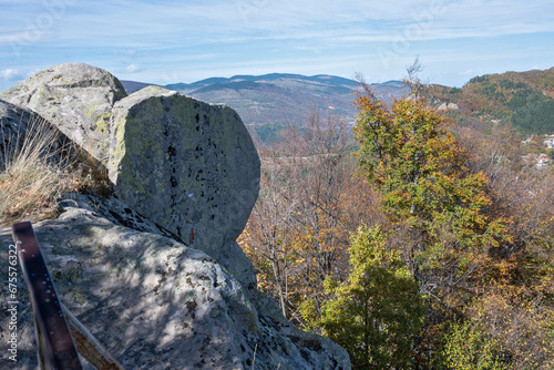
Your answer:
[[[79,350],[96,369],[124,369],[58,299],[31,223],[12,225],[12,235],[31,298],[40,368],[82,369]]]

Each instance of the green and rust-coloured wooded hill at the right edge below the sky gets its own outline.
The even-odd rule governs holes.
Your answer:
[[[448,114],[462,123],[497,120],[523,135],[554,133],[554,68],[475,76],[461,89],[429,85],[424,93],[437,105],[455,103],[460,111]]]

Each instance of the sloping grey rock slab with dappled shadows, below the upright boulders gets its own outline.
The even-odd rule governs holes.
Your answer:
[[[126,369],[350,369],[343,349],[295,328],[266,296],[246,295],[206,254],[74,204],[62,203],[61,216],[34,232],[60,299]],[[10,232],[0,230],[1,271],[10,244]],[[10,369],[35,369],[21,275],[19,282],[18,362]],[[7,289],[0,287],[2,342],[10,333]]]

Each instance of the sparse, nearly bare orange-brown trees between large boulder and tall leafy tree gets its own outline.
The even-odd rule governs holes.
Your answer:
[[[356,175],[349,144],[343,123],[314,110],[260,153],[260,195],[239,243],[259,288],[298,326],[302,302],[319,311],[327,276],[348,278],[350,233],[376,214],[376,194]]]

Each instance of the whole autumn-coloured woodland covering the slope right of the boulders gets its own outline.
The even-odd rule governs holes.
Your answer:
[[[523,76],[430,99],[411,79],[411,99],[390,104],[366,86],[356,141],[315,111],[260,145],[239,243],[259,287],[353,369],[554,368],[554,172],[522,158],[507,124],[529,105],[519,100],[548,105],[537,92],[552,85]]]

